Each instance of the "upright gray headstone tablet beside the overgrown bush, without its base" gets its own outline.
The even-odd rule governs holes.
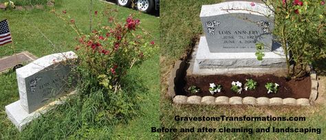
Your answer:
[[[72,51],[44,56],[16,70],[21,106],[28,113],[47,104],[53,97],[72,91],[68,77],[69,61],[76,58]]]

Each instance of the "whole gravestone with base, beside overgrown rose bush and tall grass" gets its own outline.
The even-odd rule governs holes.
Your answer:
[[[76,57],[72,51],[51,54],[16,70],[20,100],[6,106],[6,113],[19,130],[43,111],[39,108],[74,90],[68,78]]]

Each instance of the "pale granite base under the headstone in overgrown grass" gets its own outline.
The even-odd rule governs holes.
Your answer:
[[[76,93],[76,91],[69,93],[69,95],[73,95],[74,93]],[[33,119],[36,119],[41,114],[46,113],[48,110],[52,109],[54,105],[63,104],[63,100],[65,100],[67,96],[61,97],[61,99],[51,102],[47,106],[39,108],[38,110],[30,114],[25,109],[23,109],[23,107],[21,106],[21,101],[18,100],[5,107],[6,114],[8,115],[8,119],[10,119],[10,121],[12,121],[12,123],[14,124],[14,126],[16,126],[19,132],[21,132],[25,128],[25,126],[28,126],[28,124],[30,124]]]

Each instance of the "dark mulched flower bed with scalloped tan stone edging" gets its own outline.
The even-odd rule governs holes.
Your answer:
[[[178,60],[171,71],[168,93],[175,104],[251,104],[251,105],[299,105],[310,106],[318,97],[316,73],[302,80],[290,80],[275,75],[186,75],[186,62]],[[254,90],[235,93],[232,82],[246,85],[246,79],[257,82]],[[276,93],[268,93],[268,82],[279,85]],[[211,84],[222,86],[221,92],[210,92]],[[191,93],[189,87],[196,86],[199,92]]]

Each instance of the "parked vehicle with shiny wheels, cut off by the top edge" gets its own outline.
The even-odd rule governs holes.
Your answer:
[[[118,5],[130,7],[131,3],[141,12],[151,12],[160,9],[160,0],[116,0]]]

